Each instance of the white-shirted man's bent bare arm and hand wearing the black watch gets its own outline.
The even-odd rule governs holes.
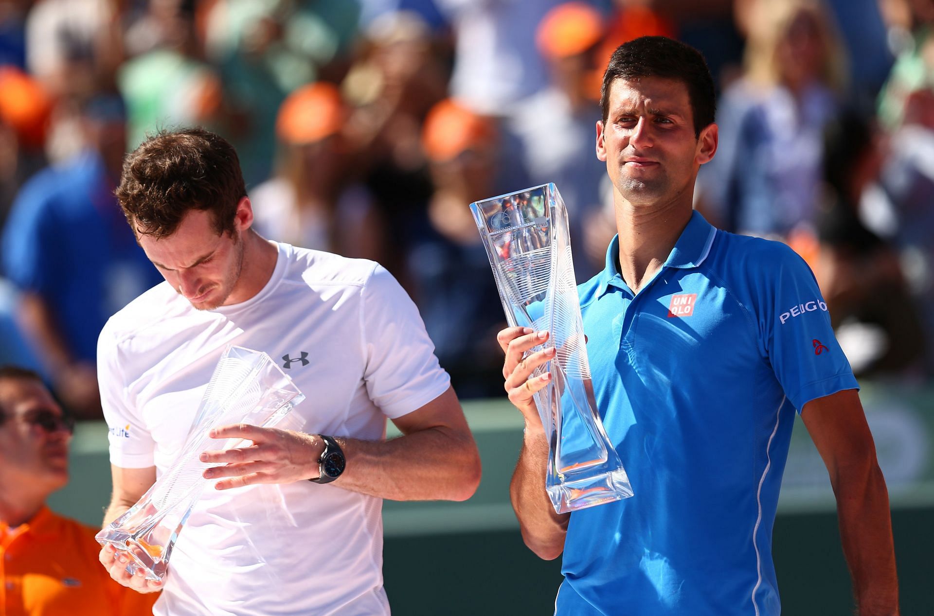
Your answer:
[[[480,455],[454,390],[393,420],[403,436],[391,441],[336,438],[347,469],[333,483],[391,500],[466,500],[480,483]],[[250,483],[289,483],[318,477],[324,442],[318,435],[253,426],[220,427],[214,438],[240,437],[252,445],[201,455],[228,462],[205,470],[225,490]]]

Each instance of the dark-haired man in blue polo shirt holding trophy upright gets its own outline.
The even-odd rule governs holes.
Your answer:
[[[797,409],[827,464],[862,616],[898,613],[888,496],[858,385],[807,265],[692,210],[717,145],[695,49],[643,37],[603,78],[597,155],[618,235],[578,287],[597,407],[634,497],[556,514],[548,443],[523,355],[547,332],[504,329],[506,391],[525,440],[511,496],[526,544],[564,553],[556,613],[775,616],[771,528]]]

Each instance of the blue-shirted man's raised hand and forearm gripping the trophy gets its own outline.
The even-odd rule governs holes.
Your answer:
[[[551,380],[551,374],[530,379],[531,372],[554,357],[554,349],[545,349],[523,359],[523,354],[547,339],[545,332],[529,328],[503,329],[497,340],[506,354],[502,366],[506,393],[525,419],[525,438],[509,497],[516,511],[522,539],[532,552],[545,560],[558,558],[564,551],[570,513],[556,513],[545,491],[548,465],[548,441],[532,395]]]

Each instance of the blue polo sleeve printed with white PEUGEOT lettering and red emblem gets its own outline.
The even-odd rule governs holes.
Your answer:
[[[800,413],[813,399],[859,385],[814,273],[791,248],[769,245],[757,259],[758,327],[775,377]]]

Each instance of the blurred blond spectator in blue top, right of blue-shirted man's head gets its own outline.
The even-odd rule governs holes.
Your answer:
[[[842,46],[820,0],[757,0],[745,63],[718,105],[720,146],[700,198],[729,231],[784,238],[814,222]]]

